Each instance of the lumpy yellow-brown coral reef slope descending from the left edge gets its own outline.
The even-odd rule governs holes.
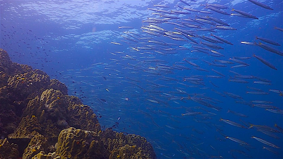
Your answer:
[[[0,58],[0,158],[156,158],[144,137],[102,130],[59,80],[13,63],[3,49]]]

